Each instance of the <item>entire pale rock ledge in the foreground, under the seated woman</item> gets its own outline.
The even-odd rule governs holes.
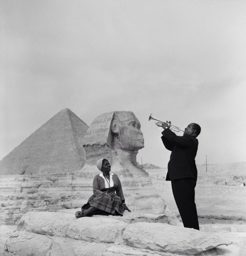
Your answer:
[[[4,256],[184,256],[206,252],[231,242],[198,230],[157,223],[159,215],[141,222],[128,217],[38,212],[25,214],[5,240]],[[143,215],[142,215],[143,217]],[[156,220],[150,223],[148,220]],[[130,221],[130,223],[129,223]],[[1,232],[1,229],[0,229]]]

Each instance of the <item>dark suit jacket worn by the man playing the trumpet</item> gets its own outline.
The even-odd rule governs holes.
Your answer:
[[[166,180],[194,178],[197,180],[195,157],[198,140],[189,135],[177,136],[170,129],[162,131],[162,142],[166,149],[172,151],[168,162]]]

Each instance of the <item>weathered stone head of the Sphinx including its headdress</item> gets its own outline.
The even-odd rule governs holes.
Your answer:
[[[94,163],[99,158],[115,160],[115,154],[122,160],[136,164],[136,155],[144,147],[140,122],[131,111],[114,111],[96,117],[88,128],[83,146],[86,162]]]

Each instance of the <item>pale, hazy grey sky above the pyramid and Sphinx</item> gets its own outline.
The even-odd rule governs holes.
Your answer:
[[[201,126],[197,164],[246,161],[246,1],[0,0],[0,35],[0,159],[69,108],[132,111],[140,163],[170,158],[151,113]]]

